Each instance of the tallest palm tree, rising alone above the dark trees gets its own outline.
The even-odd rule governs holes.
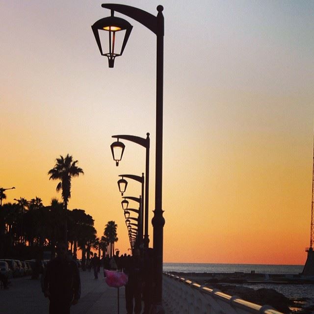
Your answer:
[[[49,180],[60,180],[56,187],[56,191],[62,190],[63,209],[66,214],[68,202],[71,198],[71,179],[84,174],[83,170],[77,166],[78,160],[73,161],[73,157],[67,154],[66,157],[60,155],[56,158],[56,163],[52,169],[48,171]],[[67,219],[64,219],[64,240],[68,242],[67,235]]]

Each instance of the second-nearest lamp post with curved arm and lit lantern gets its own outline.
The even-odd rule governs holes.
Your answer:
[[[111,144],[111,152],[113,160],[116,161],[116,165],[119,165],[119,161],[121,161],[123,152],[125,149],[125,145],[122,142],[119,142],[119,139],[125,139],[141,145],[145,147],[146,150],[146,158],[145,158],[145,197],[142,193],[143,203],[144,203],[144,219],[145,219],[145,232],[144,232],[144,246],[148,248],[149,245],[149,235],[148,235],[148,206],[149,206],[149,149],[150,149],[150,138],[149,133],[146,133],[146,138],[134,135],[113,135],[113,138],[117,138],[117,141]]]

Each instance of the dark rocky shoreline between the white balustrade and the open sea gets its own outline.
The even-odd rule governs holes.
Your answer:
[[[205,285],[209,288],[219,289],[220,291],[228,295],[237,295],[243,300],[259,304],[270,305],[276,310],[285,313],[299,314],[313,314],[314,307],[309,305],[306,298],[289,299],[282,293],[270,288],[253,289],[238,286],[244,283],[299,283],[297,275],[285,276],[285,275],[267,275],[265,274],[246,274],[246,273],[180,273],[171,272],[175,276],[179,276],[184,279],[189,279],[193,282],[197,282],[200,285]],[[275,279],[275,280],[274,280]],[[311,282],[312,283],[312,282]],[[238,284],[238,285],[236,285]],[[301,283],[300,283],[301,284]]]

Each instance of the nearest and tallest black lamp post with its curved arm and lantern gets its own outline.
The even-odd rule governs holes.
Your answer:
[[[150,29],[157,36],[157,89],[156,89],[156,178],[155,178],[155,210],[152,219],[153,231],[153,248],[154,248],[154,279],[155,291],[151,313],[164,313],[162,307],[162,255],[163,255],[163,226],[165,220],[163,218],[162,210],[162,116],[163,116],[163,36],[164,36],[164,18],[163,6],[158,5],[157,16],[152,15],[141,9],[124,5],[124,4],[102,4],[103,8],[111,10],[111,16],[97,21],[93,26],[93,32],[97,45],[102,55],[108,57],[109,67],[113,67],[113,60],[116,56],[121,55],[124,51],[126,43],[129,39],[132,29],[128,25],[114,17],[114,11],[122,13],[143,26]],[[125,21],[125,20],[123,20]],[[127,22],[127,21],[125,21]],[[123,40],[120,53],[114,52],[115,37],[113,34],[118,35],[119,31],[125,29],[125,37]],[[109,51],[103,52],[100,41],[99,30],[108,31],[109,34]],[[110,63],[111,58],[111,63]]]

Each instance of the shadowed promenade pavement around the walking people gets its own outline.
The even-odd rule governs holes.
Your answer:
[[[93,272],[80,271],[81,297],[71,314],[117,314],[118,289],[105,283],[103,269],[99,279]],[[10,279],[9,289],[0,289],[0,314],[48,314],[49,299],[41,291],[40,280],[30,277]],[[125,289],[119,288],[119,313],[126,314]]]

